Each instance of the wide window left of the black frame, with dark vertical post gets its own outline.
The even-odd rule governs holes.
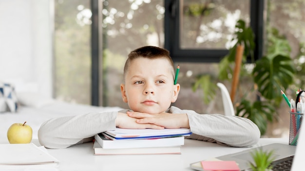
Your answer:
[[[130,51],[164,47],[164,0],[56,0],[55,98],[128,107],[120,84]]]

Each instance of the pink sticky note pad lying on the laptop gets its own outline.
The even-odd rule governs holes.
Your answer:
[[[240,171],[235,161],[201,161],[205,171]]]

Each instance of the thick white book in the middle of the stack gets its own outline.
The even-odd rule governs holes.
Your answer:
[[[184,145],[184,137],[165,137],[152,139],[119,139],[112,140],[102,133],[95,135],[95,141],[104,149],[170,147]]]

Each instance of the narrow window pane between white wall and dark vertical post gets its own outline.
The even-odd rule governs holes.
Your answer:
[[[90,0],[55,1],[54,92],[57,99],[91,104]]]

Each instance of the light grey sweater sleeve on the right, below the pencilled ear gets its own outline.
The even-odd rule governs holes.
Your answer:
[[[221,114],[198,114],[192,110],[171,108],[171,113],[186,113],[192,135],[187,138],[216,142],[234,147],[250,147],[261,136],[257,125],[247,118]]]

